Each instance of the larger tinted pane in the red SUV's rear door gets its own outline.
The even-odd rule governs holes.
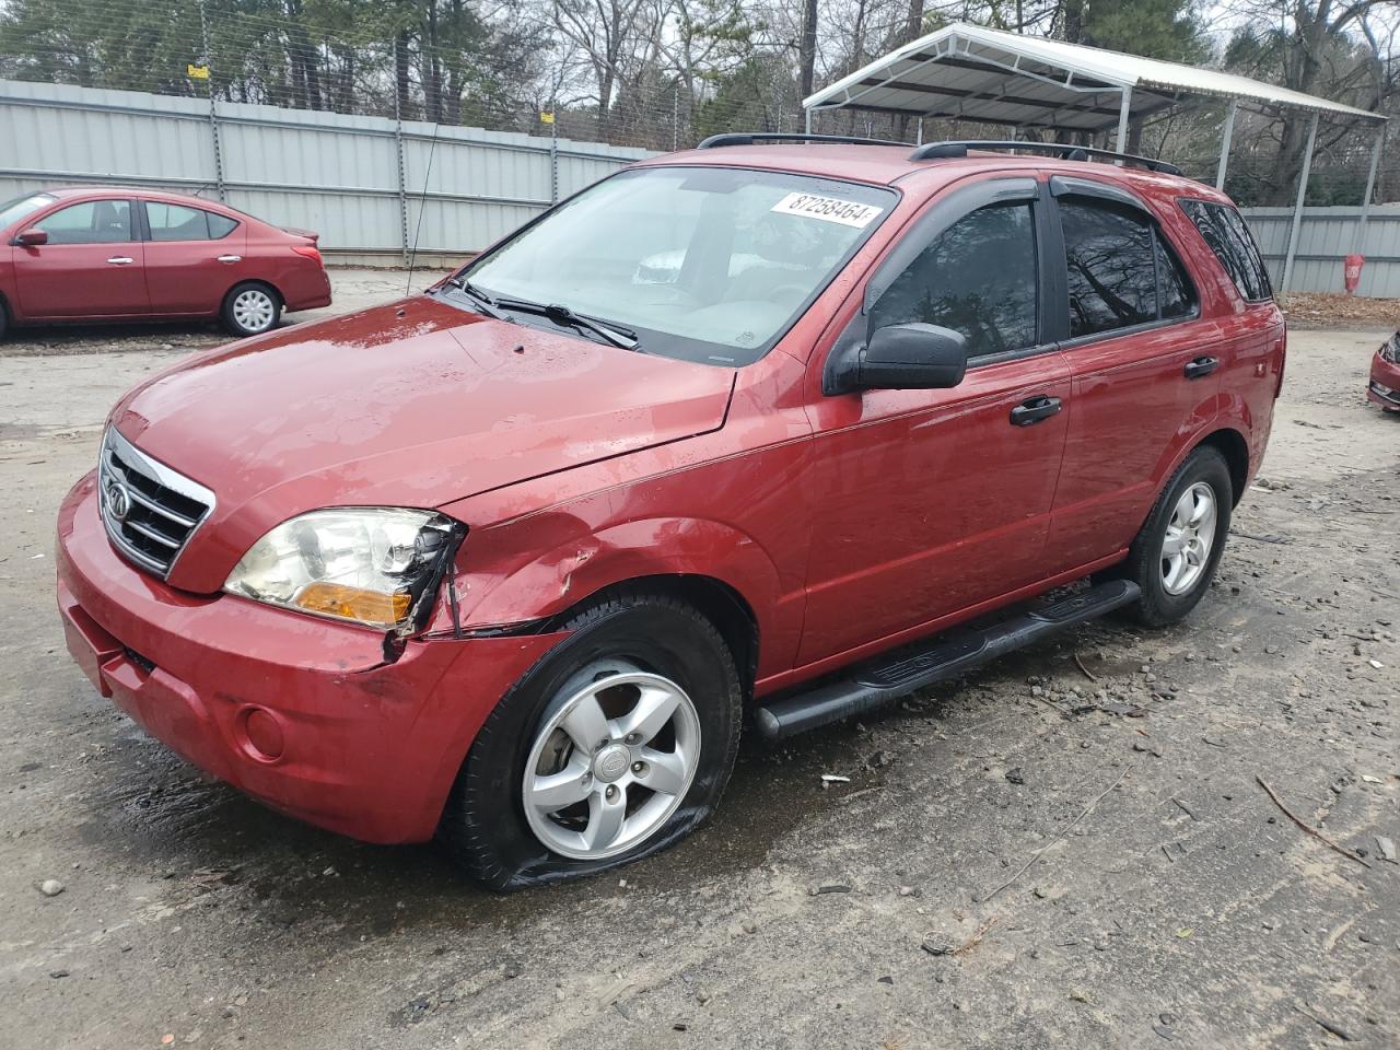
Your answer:
[[[1060,199],[1070,336],[1156,321],[1152,223],[1135,209]]]

